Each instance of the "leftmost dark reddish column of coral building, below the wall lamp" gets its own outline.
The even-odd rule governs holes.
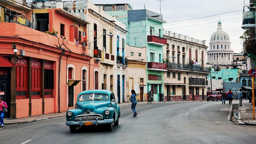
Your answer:
[[[11,55],[11,62],[16,65],[16,55]],[[16,66],[11,68],[10,118],[16,118]]]

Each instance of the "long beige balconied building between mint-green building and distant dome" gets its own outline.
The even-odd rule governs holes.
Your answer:
[[[206,41],[164,31],[164,100],[202,100],[206,95]]]

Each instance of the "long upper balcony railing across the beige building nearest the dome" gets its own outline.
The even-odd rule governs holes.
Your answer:
[[[189,70],[202,70],[210,72],[211,69],[207,67],[201,67],[200,65],[182,65],[181,63],[167,62],[167,68],[189,69]]]

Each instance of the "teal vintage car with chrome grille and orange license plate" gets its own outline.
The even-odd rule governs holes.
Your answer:
[[[107,90],[88,90],[78,94],[74,109],[67,110],[66,125],[71,133],[77,127],[89,125],[106,125],[109,131],[113,124],[118,125],[121,110],[115,100],[115,95]]]

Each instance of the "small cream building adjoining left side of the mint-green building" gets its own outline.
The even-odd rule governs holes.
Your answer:
[[[131,97],[131,90],[137,94],[137,101],[147,101],[147,71],[146,47],[133,47],[126,45],[128,59],[126,75],[126,102]]]

